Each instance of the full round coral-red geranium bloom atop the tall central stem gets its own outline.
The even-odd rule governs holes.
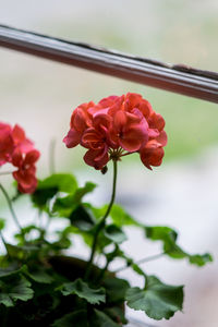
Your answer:
[[[97,105],[78,106],[72,113],[70,131],[63,142],[66,147],[81,144],[87,148],[84,160],[102,169],[110,159],[140,153],[148,168],[162,161],[167,134],[165,120],[141,95],[128,93],[110,96]]]

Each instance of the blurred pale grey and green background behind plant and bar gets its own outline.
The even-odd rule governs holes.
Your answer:
[[[217,71],[217,16],[216,0],[0,0],[0,24],[211,71]],[[117,202],[145,223],[175,228],[187,252],[210,252],[215,258],[203,268],[168,258],[144,265],[165,282],[185,284],[183,313],[157,323],[141,313],[129,314],[152,326],[216,327],[218,107],[0,48],[0,120],[21,124],[40,149],[39,178],[49,173],[49,144],[55,138],[57,171],[71,171],[81,183],[97,181],[96,205],[110,196],[111,171],[101,175],[86,167],[84,150],[66,149],[62,138],[77,105],[126,92],[142,94],[164,116],[169,143],[162,166],[152,172],[135,155],[120,164]],[[10,190],[12,179],[1,179]],[[0,215],[10,219],[1,195],[0,206]],[[23,206],[17,205],[20,216]],[[130,237],[124,249],[136,258],[160,252],[159,244],[144,242],[143,247],[138,231]],[[72,251],[86,255],[80,242]],[[129,270],[120,276],[141,284]]]

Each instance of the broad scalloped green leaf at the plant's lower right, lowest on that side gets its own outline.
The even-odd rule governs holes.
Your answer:
[[[126,301],[130,307],[144,311],[153,319],[169,319],[182,310],[183,287],[169,286],[155,276],[147,276],[146,288],[130,288]]]

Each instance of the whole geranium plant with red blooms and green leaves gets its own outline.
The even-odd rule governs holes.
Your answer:
[[[36,179],[39,152],[19,125],[0,123],[0,166],[12,165],[16,194],[4,195],[17,232],[9,243],[0,220],[0,237],[5,253],[0,257],[0,324],[1,326],[119,327],[128,323],[124,305],[144,311],[154,319],[169,319],[182,310],[183,286],[164,283],[149,276],[134,258],[122,250],[124,229],[142,229],[145,238],[162,242],[162,255],[186,258],[204,266],[209,254],[191,255],[177,244],[178,233],[166,226],[147,226],[114,204],[118,166],[123,157],[138,153],[143,165],[160,166],[167,144],[165,120],[141,95],[110,96],[97,105],[78,106],[72,113],[70,131],[63,142],[68,148],[82,145],[87,149],[84,160],[101,173],[112,161],[113,180],[110,202],[95,207],[85,201],[95,184],[80,186],[71,173],[52,173]],[[1,174],[5,172],[2,170]],[[14,202],[28,194],[38,221],[23,226],[14,210]],[[47,220],[46,226],[40,218]],[[46,218],[45,218],[46,217]],[[55,219],[68,222],[61,230],[48,232]],[[85,262],[65,255],[72,237],[80,235],[90,249]],[[96,254],[105,264],[98,266]],[[132,286],[110,269],[120,258],[144,279],[144,287]],[[145,258],[146,259],[146,258]]]

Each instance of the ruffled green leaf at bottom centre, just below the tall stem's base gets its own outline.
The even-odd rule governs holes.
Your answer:
[[[60,290],[63,295],[76,294],[78,298],[85,299],[90,304],[99,304],[100,302],[106,302],[104,288],[92,289],[81,278],[76,279],[73,282],[65,282]]]

